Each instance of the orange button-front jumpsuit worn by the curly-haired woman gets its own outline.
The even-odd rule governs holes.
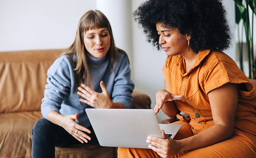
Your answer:
[[[189,114],[173,124],[182,124],[174,139],[196,135],[214,125],[209,104],[209,91],[226,83],[238,84],[238,104],[233,137],[208,147],[175,155],[174,158],[256,158],[256,91],[237,64],[217,50],[199,51],[190,71],[185,71],[181,55],[167,56],[163,76],[170,92],[183,95],[176,107]],[[146,141],[146,140],[145,140]],[[197,143],[197,142],[195,142]],[[160,158],[151,149],[118,148],[118,158]]]

